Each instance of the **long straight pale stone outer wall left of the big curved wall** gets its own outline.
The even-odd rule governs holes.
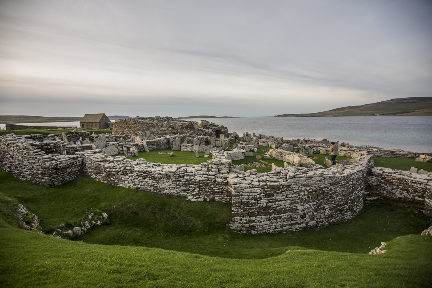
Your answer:
[[[84,172],[95,180],[165,195],[186,196],[192,201],[230,202],[227,176],[229,160],[210,159],[200,165],[167,165],[78,152],[84,157]]]

